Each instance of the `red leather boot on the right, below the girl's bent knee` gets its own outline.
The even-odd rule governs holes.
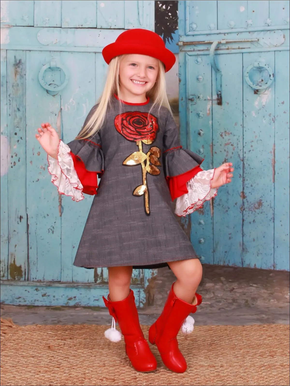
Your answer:
[[[173,283],[174,284],[174,283]],[[186,371],[187,364],[178,348],[177,334],[190,313],[196,312],[201,295],[195,294],[193,304],[175,295],[173,284],[160,317],[149,329],[149,342],[156,344],[165,366],[174,372]]]

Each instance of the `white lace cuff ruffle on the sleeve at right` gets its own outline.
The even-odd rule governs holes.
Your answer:
[[[188,193],[176,200],[175,213],[186,216],[203,207],[205,201],[217,196],[217,188],[212,189],[212,179],[215,169],[203,170],[186,183]]]

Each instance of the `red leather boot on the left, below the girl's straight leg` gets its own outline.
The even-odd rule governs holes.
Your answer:
[[[111,301],[109,295],[108,299],[103,296],[103,300],[110,315],[119,323],[124,335],[126,354],[134,369],[142,372],[156,370],[156,359],[140,327],[133,291],[130,289],[129,295],[121,301]]]

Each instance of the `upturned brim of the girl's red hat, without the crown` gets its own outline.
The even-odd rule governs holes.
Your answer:
[[[111,43],[108,44],[102,50],[103,58],[107,64],[116,56],[125,54],[140,54],[151,56],[152,58],[159,59],[165,66],[165,72],[169,71],[174,65],[176,58],[173,52],[166,47],[154,47],[152,45],[146,46],[143,44],[132,44],[132,43]]]

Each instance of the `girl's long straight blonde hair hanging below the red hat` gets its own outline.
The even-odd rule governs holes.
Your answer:
[[[119,86],[119,68],[121,59],[124,56],[125,55],[116,56],[116,58],[113,58],[111,60],[108,68],[107,80],[104,86],[104,91],[102,92],[101,97],[96,103],[97,108],[90,117],[90,119],[85,123],[82,130],[77,135],[76,139],[86,139],[96,134],[101,129],[102,124],[104,123],[107,109],[108,107],[111,107],[114,95],[117,95],[119,100],[121,99]],[[151,106],[149,113],[154,107],[158,107],[158,111],[160,111],[161,106],[164,106],[172,114],[166,95],[164,64],[160,60],[158,62],[159,71],[156,82],[147,94],[147,97],[149,97],[150,100],[153,101],[153,105]]]

